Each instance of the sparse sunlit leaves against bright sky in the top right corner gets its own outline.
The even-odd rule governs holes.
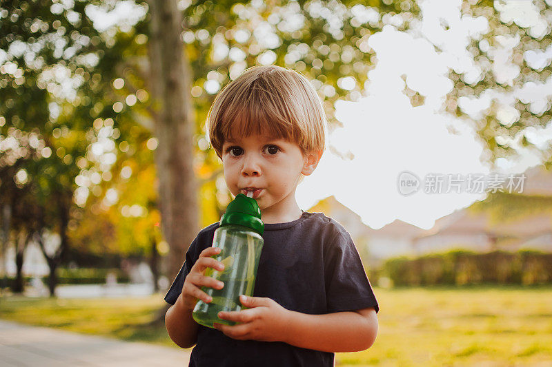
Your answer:
[[[474,83],[467,83],[464,76],[455,74],[453,70],[450,72],[451,80],[454,81],[454,90],[449,94],[448,98],[453,101],[457,101],[460,96],[468,95],[475,98],[479,98],[486,92],[493,91],[501,94],[502,96],[516,95],[519,90],[523,90],[525,86],[535,83],[537,85],[544,85],[551,76],[551,70],[549,65],[543,67],[533,67],[528,63],[526,54],[535,52],[539,54],[544,52],[552,43],[552,34],[546,30],[543,34],[533,34],[533,30],[529,27],[525,21],[507,21],[505,22],[504,13],[500,12],[499,6],[503,6],[508,3],[499,1],[462,1],[462,14],[469,15],[471,17],[483,17],[489,23],[488,32],[482,34],[481,37],[470,40],[468,50],[473,54],[473,61],[477,67],[482,71],[482,76],[479,81]],[[535,0],[532,2],[535,9],[539,12],[539,17],[542,17],[544,22],[548,19],[550,14],[550,3],[544,0]],[[515,2],[507,4],[509,6],[517,6]],[[519,10],[510,8],[509,12],[524,12],[522,6]],[[504,39],[519,39],[515,46],[509,50],[511,56],[509,56],[508,63],[513,68],[519,68],[520,72],[510,81],[497,80],[497,73],[495,73],[495,59],[494,52],[500,48],[500,43]],[[490,47],[485,47],[489,45]],[[491,105],[482,114],[480,118],[476,120],[477,135],[484,142],[484,146],[489,154],[489,162],[494,163],[497,158],[509,156],[515,154],[516,150],[511,143],[503,143],[497,137],[513,137],[517,134],[521,134],[520,143],[522,147],[535,147],[534,141],[529,141],[527,135],[523,134],[523,129],[526,127],[545,127],[552,117],[552,110],[550,108],[545,109],[544,112],[535,112],[531,109],[531,103],[525,98],[515,96],[515,100],[511,104],[512,107],[517,109],[519,115],[511,123],[502,123],[500,118],[500,112],[505,105],[504,101],[501,101],[502,97],[495,97],[491,99]],[[449,112],[453,112],[457,116],[466,117],[466,114],[462,112],[457,103],[448,103],[446,109]],[[552,158],[552,151],[550,148],[536,147],[542,150],[542,158],[545,162],[550,163]]]

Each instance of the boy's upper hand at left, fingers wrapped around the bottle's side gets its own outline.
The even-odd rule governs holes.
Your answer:
[[[199,258],[197,258],[194,266],[190,269],[190,273],[186,276],[184,286],[182,286],[182,302],[186,311],[192,312],[194,310],[198,298],[206,303],[212,301],[207,293],[201,291],[201,286],[208,286],[214,289],[222,289],[224,287],[223,282],[204,275],[204,271],[207,268],[213,268],[218,271],[224,270],[224,264],[211,258],[211,256],[217,255],[220,251],[221,249],[218,247],[207,247],[204,251],[201,251]]]

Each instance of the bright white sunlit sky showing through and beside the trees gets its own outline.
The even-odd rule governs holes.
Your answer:
[[[519,115],[513,108],[515,98],[529,103],[534,113],[550,109],[552,78],[542,85],[527,83],[512,94],[486,91],[478,98],[460,98],[460,108],[469,118],[460,119],[440,112],[446,94],[453,88],[447,77],[449,70],[463,74],[468,83],[482,78],[466,48],[471,39],[481,40],[482,34],[489,31],[488,22],[484,17],[462,15],[460,0],[417,3],[422,9],[422,19],[413,21],[407,32],[397,31],[395,25],[401,22],[400,17],[392,17],[382,32],[373,34],[368,40],[377,56],[375,68],[368,74],[362,98],[355,102],[339,101],[335,105],[336,118],[344,127],[335,129],[326,141],[327,147],[333,146],[342,156],[351,153],[354,158],[344,160],[326,149],[316,171],[297,187],[296,198],[302,209],[307,210],[319,200],[333,195],[374,229],[395,219],[431,228],[436,219],[484,199],[485,193],[430,194],[421,190],[403,196],[397,189],[399,174],[410,171],[422,180],[430,173],[488,175],[491,172],[482,163],[483,147],[475,137],[473,120],[482,116],[493,98],[500,105],[497,118],[506,126],[515,122]],[[546,3],[551,6],[552,0],[546,0]],[[118,8],[108,17],[91,7],[88,16],[99,29],[108,29],[123,18],[128,23],[135,23],[144,14],[141,10],[132,12],[133,4],[132,1],[119,2]],[[179,3],[179,6],[188,5],[186,1]],[[551,25],[542,18],[532,1],[495,1],[495,8],[500,11],[502,21],[514,21],[527,28],[532,36],[550,32]],[[134,14],[135,19],[128,19],[129,14]],[[374,14],[368,15],[373,17]],[[244,36],[247,38],[248,35]],[[187,37],[193,39],[193,33],[187,32],[185,41]],[[270,39],[266,34],[262,38]],[[483,40],[480,48],[490,49],[496,80],[513,85],[513,78],[520,70],[510,62],[511,50],[520,39],[504,35],[495,41],[497,45],[491,46]],[[215,56],[224,58],[226,55],[233,61],[245,58],[237,48],[229,50],[224,44],[216,48]],[[267,63],[273,62],[270,54],[265,56]],[[552,45],[543,52],[526,52],[524,58],[535,70],[545,67],[552,60]],[[241,71],[244,69],[243,62]],[[241,71],[230,70],[230,76],[234,78]],[[210,72],[204,85],[211,94],[221,87],[215,74]],[[344,80],[342,83],[354,84],[355,81]],[[411,105],[404,94],[406,86],[425,96],[423,105]],[[546,149],[552,140],[552,123],[546,129],[529,127],[524,134],[532,143]],[[511,141],[519,148],[519,156],[497,161],[501,173],[519,174],[540,164],[538,152],[520,148],[521,137],[522,134],[517,134]]]

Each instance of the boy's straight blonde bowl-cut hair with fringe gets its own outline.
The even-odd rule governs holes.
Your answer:
[[[210,144],[222,158],[222,145],[241,136],[266,134],[297,143],[303,154],[324,151],[326,114],[313,85],[295,70],[276,65],[248,68],[217,94],[207,114]]]

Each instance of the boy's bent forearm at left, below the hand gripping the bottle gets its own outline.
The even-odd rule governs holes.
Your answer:
[[[186,310],[182,295],[165,314],[165,327],[172,342],[181,348],[191,348],[197,342],[198,324],[192,318],[192,311]]]

